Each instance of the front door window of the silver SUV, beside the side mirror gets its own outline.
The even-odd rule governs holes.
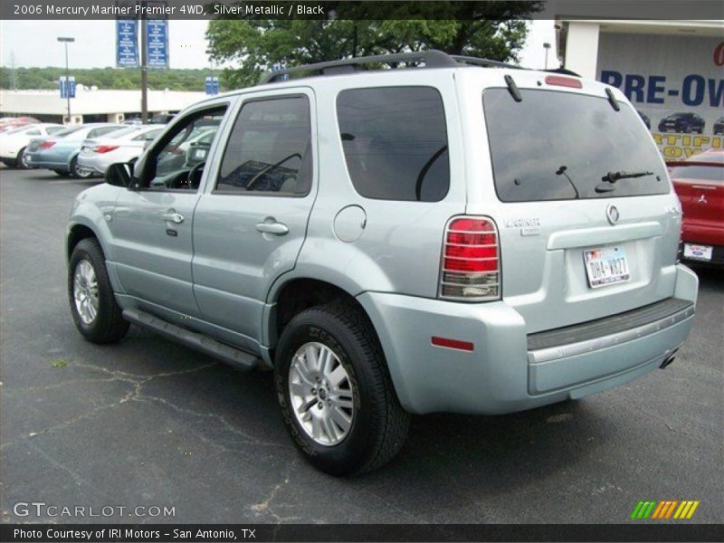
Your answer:
[[[181,119],[157,145],[151,149],[143,166],[140,185],[150,189],[191,189],[201,183],[206,156],[216,131],[224,118],[226,106],[195,111]],[[163,129],[158,129],[160,133]],[[152,137],[153,131],[143,135]],[[208,144],[201,150],[195,145],[201,138]]]

